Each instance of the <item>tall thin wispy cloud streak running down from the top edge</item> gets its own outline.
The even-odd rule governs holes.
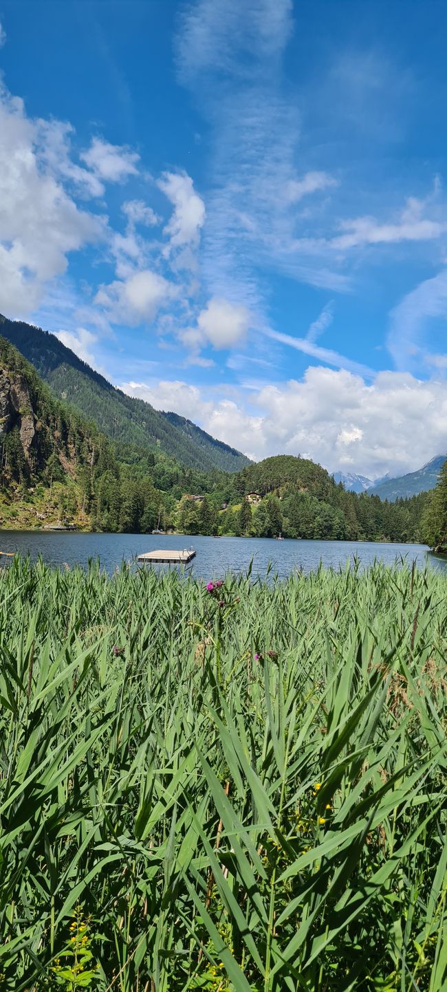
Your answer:
[[[298,169],[300,115],[282,60],[293,29],[290,0],[201,0],[184,12],[177,40],[181,80],[212,125],[201,271],[211,296],[265,319],[265,273],[345,288],[331,263],[295,250],[304,197],[337,181]]]

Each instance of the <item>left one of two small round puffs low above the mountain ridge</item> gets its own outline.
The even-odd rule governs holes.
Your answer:
[[[157,311],[177,294],[177,288],[163,276],[143,269],[126,280],[115,280],[107,286],[100,286],[94,303],[103,307],[114,323],[139,324],[152,320]]]

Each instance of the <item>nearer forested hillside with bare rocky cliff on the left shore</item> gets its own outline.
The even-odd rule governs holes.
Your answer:
[[[150,531],[183,493],[213,491],[227,477],[159,448],[114,444],[0,337],[0,527]]]

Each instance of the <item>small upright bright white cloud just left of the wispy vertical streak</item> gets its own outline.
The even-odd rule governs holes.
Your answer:
[[[157,184],[174,204],[174,213],[164,233],[173,248],[198,248],[205,223],[205,203],[187,173],[163,173]]]

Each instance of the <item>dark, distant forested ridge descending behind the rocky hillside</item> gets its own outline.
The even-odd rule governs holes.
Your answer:
[[[114,441],[160,448],[176,461],[200,471],[235,472],[249,458],[173,413],[154,410],[144,400],[126,396],[95,372],[55,334],[0,314],[0,334],[35,367],[64,401]]]

